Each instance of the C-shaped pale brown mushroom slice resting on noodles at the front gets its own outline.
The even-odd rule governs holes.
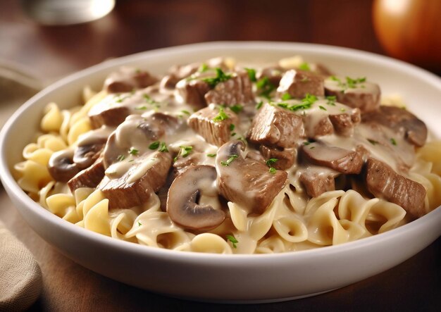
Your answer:
[[[168,190],[170,219],[190,230],[211,230],[223,223],[225,212],[210,205],[197,204],[200,196],[218,196],[216,168],[191,166],[175,178]]]

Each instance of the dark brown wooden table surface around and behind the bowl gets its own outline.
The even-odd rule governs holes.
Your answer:
[[[370,0],[119,0],[105,18],[66,27],[37,25],[23,15],[19,1],[0,2],[0,59],[23,65],[45,81],[107,58],[213,40],[311,42],[383,54],[371,24]],[[44,290],[32,311],[441,310],[441,239],[385,273],[334,292],[278,304],[226,306],[163,297],[78,266],[40,239],[1,190],[0,220],[42,267]]]

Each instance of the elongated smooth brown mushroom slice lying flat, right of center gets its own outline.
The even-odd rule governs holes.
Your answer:
[[[310,163],[331,168],[340,173],[358,174],[363,167],[361,154],[337,146],[311,143],[302,146],[302,156]]]

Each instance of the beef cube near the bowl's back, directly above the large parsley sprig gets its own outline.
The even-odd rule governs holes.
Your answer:
[[[303,98],[306,94],[323,96],[323,77],[304,70],[288,70],[280,80],[277,92],[288,93],[295,98]]]

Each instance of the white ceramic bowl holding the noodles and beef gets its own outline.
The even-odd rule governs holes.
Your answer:
[[[106,61],[56,82],[27,101],[0,135],[0,173],[4,187],[23,218],[47,242],[90,270],[148,289],[201,301],[268,302],[327,292],[397,266],[441,235],[441,208],[390,232],[333,247],[285,254],[197,254],[122,242],[70,224],[32,201],[11,175],[25,144],[39,125],[44,106],[55,101],[67,108],[80,101],[85,85],[100,89],[120,65],[163,74],[177,63],[214,56],[240,61],[276,61],[300,54],[349,76],[367,76],[384,94],[402,94],[411,111],[441,137],[437,125],[441,80],[420,68],[362,51],[275,42],[192,44]]]

